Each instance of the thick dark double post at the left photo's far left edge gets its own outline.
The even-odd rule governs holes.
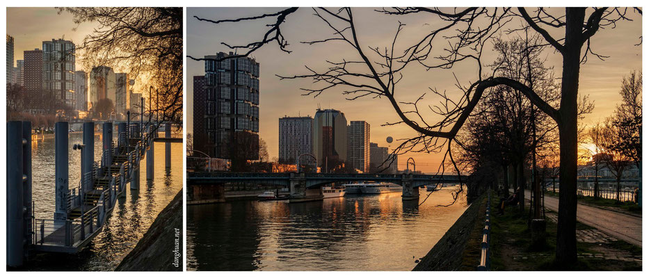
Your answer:
[[[31,122],[7,122],[7,265],[23,265],[31,245]]]

